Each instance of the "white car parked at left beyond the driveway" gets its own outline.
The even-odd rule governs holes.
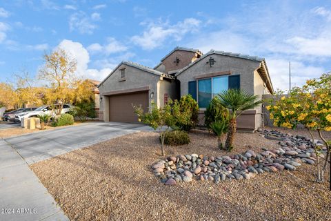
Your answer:
[[[70,106],[70,104],[63,104],[61,114],[68,113],[71,110],[72,110],[72,106]],[[23,118],[37,117],[38,115],[50,115],[51,117],[54,117],[55,113],[54,111],[52,111],[52,106],[45,105],[35,109],[34,111],[19,113],[15,115],[15,120],[21,122]]]

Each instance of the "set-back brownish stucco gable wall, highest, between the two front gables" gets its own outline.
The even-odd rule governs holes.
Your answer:
[[[185,66],[188,66],[188,64],[191,64],[192,61],[197,59],[197,56],[198,55],[196,52],[176,50],[162,61],[161,66],[157,67],[157,70],[164,73],[168,73],[172,70],[179,70],[181,68],[184,68]],[[178,65],[174,63],[176,57],[178,57],[180,60]]]

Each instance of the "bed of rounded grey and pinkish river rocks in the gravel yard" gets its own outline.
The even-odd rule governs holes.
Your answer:
[[[192,180],[210,180],[219,184],[225,180],[249,180],[257,174],[294,171],[302,163],[315,164],[316,154],[312,140],[301,135],[265,130],[263,137],[278,137],[279,148],[255,153],[252,150],[236,155],[204,156],[177,155],[152,164],[155,176],[165,185]],[[323,145],[315,140],[315,145]],[[323,157],[323,156],[322,156]]]

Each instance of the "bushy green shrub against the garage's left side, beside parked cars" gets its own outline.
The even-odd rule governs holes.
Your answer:
[[[88,119],[88,117],[90,118],[97,117],[97,113],[95,112],[94,106],[95,103],[92,100],[80,102],[75,104],[70,114],[72,114],[74,117],[78,117],[78,119],[84,122],[86,121],[86,119]]]

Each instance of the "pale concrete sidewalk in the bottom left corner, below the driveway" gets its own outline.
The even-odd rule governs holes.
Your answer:
[[[0,220],[68,220],[21,156],[0,140]]]

